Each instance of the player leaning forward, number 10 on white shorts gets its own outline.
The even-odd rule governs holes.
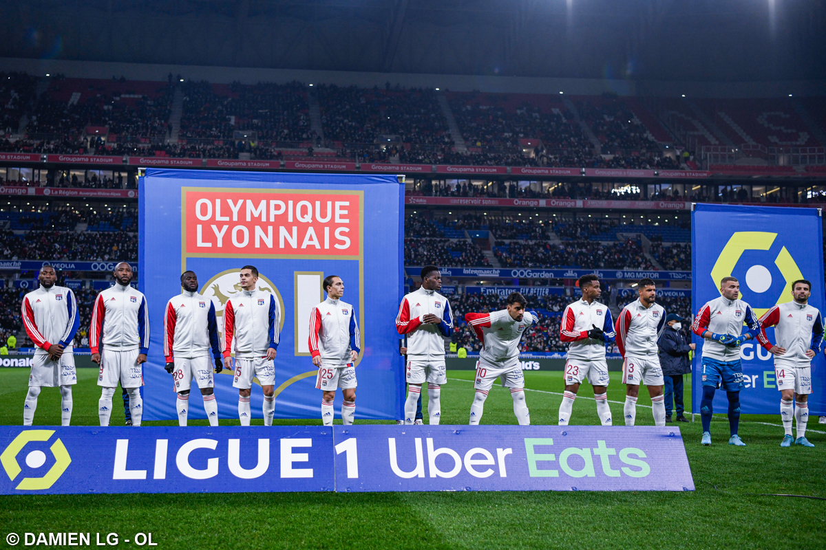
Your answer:
[[[519,362],[519,343],[525,330],[537,322],[536,313],[525,311],[528,300],[518,292],[507,299],[507,308],[491,313],[468,313],[465,321],[482,341],[482,351],[476,364],[476,393],[470,407],[470,424],[482,420],[487,393],[496,378],[502,378],[502,387],[510,388],[514,400],[514,414],[520,425],[530,424],[525,404],[525,375]]]

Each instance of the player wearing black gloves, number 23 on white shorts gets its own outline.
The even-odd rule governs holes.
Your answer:
[[[605,343],[614,341],[614,322],[608,306],[596,300],[600,298],[600,280],[596,275],[579,278],[582,299],[568,304],[559,324],[559,339],[571,342],[565,362],[565,392],[559,405],[559,425],[571,420],[574,399],[586,376],[594,387],[596,414],[602,425],[611,425],[608,407],[608,364],[605,362]]]

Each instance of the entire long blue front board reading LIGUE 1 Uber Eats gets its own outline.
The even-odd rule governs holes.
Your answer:
[[[0,449],[4,495],[695,488],[670,426],[3,426]]]

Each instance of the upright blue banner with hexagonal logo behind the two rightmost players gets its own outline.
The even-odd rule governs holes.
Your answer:
[[[812,282],[809,304],[826,311],[823,226],[817,209],[697,204],[691,213],[691,254],[695,313],[706,302],[719,298],[720,280],[728,276],[737,277],[741,298],[757,317],[776,304],[790,302],[791,284],[796,279]],[[773,328],[767,330],[767,336],[775,341]],[[691,395],[694,411],[700,411],[703,340],[694,336],[694,342],[697,352]],[[757,341],[748,341],[740,347],[740,358],[745,383],[740,393],[741,410],[778,414],[780,393],[773,356]],[[822,353],[812,361],[812,388],[809,414],[826,415],[826,360]],[[726,410],[724,392],[714,397],[714,407]]]

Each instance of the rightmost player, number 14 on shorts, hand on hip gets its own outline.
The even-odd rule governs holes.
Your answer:
[[[760,317],[757,341],[775,356],[775,379],[781,392],[780,414],[786,431],[781,447],[789,447],[792,441],[814,447],[806,439],[806,422],[809,421],[809,393],[812,393],[812,360],[823,347],[824,322],[818,309],[809,305],[811,292],[812,284],[808,280],[795,280],[791,284],[793,300],[776,305]],[[775,327],[777,343],[774,346],[766,336],[767,327]],[[791,437],[793,401],[797,440]]]

